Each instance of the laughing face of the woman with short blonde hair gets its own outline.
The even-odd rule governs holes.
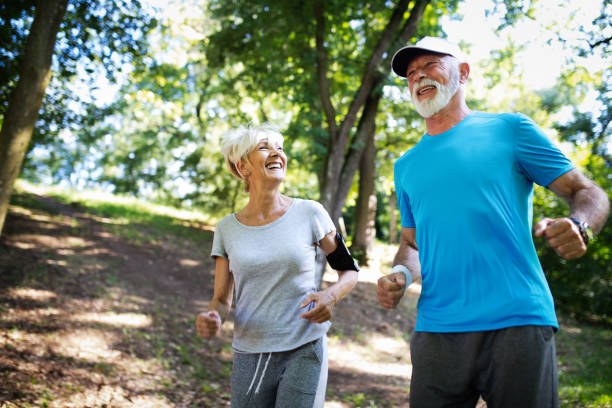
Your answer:
[[[287,171],[287,156],[283,151],[283,146],[278,143],[269,143],[268,139],[260,140],[255,149],[249,153],[248,161],[244,162],[243,169],[248,170],[251,180],[284,180]]]

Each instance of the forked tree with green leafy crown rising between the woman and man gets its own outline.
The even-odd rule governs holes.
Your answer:
[[[309,141],[319,199],[336,223],[374,135],[358,126],[369,114],[366,101],[382,92],[392,51],[415,35],[429,3],[211,2],[220,23],[209,39],[209,68],[226,77],[238,72],[235,80],[247,89],[282,95],[297,107],[289,126],[297,134],[290,136]],[[427,26],[437,27],[456,4],[436,2]]]

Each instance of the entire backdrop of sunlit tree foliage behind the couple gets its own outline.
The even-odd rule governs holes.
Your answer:
[[[289,170],[284,192],[317,199],[329,129],[317,82],[315,3],[210,0],[202,7],[197,0],[170,1],[167,7],[177,12],[161,18],[155,10],[142,8],[145,2],[140,0],[71,1],[58,38],[56,75],[24,175],[191,206],[218,218],[247,199],[241,183],[225,168],[219,136],[236,125],[272,121],[286,137]],[[328,91],[340,123],[393,2],[321,3]],[[444,36],[440,21],[460,19],[459,3],[432,1],[416,37]],[[0,112],[15,84],[34,4],[31,0],[0,4],[0,19],[7,22],[0,28]],[[504,29],[522,18],[533,18],[537,4],[494,0],[487,12],[501,18]],[[609,8],[609,2],[602,1],[601,15],[593,24],[573,30],[579,34],[577,56],[609,53],[609,38],[604,35],[612,15]],[[551,37],[564,41],[562,26],[551,27],[551,32],[559,30]],[[470,107],[531,116],[551,136],[577,146],[585,171],[610,191],[610,73],[592,73],[579,61],[568,61],[558,84],[536,93],[526,89],[520,75],[521,51],[509,42],[487,62],[474,65],[474,77],[481,75],[482,80],[475,78],[468,87]],[[376,227],[377,237],[388,240],[393,163],[417,143],[424,125],[410,106],[405,82],[390,75],[388,66],[379,70],[386,76],[377,89],[383,98],[376,118]],[[96,104],[92,96],[99,75],[122,85],[108,106]],[[580,108],[593,90],[598,94],[597,109]],[[558,113],[568,109],[569,119],[561,119]],[[344,214],[349,230],[355,196],[353,189]],[[100,211],[117,219],[127,217],[113,208]],[[537,218],[566,215],[567,210],[538,192],[535,213]],[[123,224],[116,228],[128,234]],[[605,300],[610,297],[608,230],[602,231],[588,258],[570,263],[538,243],[560,307],[600,317],[606,307],[610,310]]]

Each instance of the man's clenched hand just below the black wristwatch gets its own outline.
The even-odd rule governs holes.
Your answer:
[[[543,218],[534,227],[536,237],[543,236],[555,252],[565,259],[576,259],[586,253],[580,229],[569,218]]]

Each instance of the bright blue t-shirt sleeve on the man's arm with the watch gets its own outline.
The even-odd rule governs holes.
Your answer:
[[[548,186],[574,165],[530,118],[517,114],[515,152],[519,166],[528,180]]]

